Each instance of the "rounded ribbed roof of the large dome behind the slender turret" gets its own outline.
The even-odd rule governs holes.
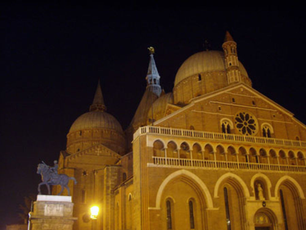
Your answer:
[[[175,76],[174,86],[187,77],[208,71],[226,71],[224,53],[222,51],[198,52],[183,62]],[[248,77],[244,66],[239,62],[241,75]]]

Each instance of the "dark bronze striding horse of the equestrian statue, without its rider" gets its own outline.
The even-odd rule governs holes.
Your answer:
[[[38,184],[38,194],[40,192],[40,186],[45,184],[48,188],[48,194],[50,195],[50,185],[60,185],[61,191],[57,194],[62,194],[64,187],[68,191],[68,196],[70,196],[70,190],[68,187],[69,180],[74,180],[74,184],[76,184],[76,179],[74,177],[69,177],[66,174],[57,174],[50,170],[50,167],[46,164],[38,164],[37,166],[37,174],[41,175],[42,182]]]

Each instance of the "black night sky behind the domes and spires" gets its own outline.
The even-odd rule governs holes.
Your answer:
[[[186,58],[225,31],[253,88],[305,117],[305,17],[297,11],[102,6],[1,6],[0,229],[40,181],[37,164],[65,149],[73,121],[88,111],[98,79],[107,111],[125,129],[145,90],[148,46],[166,92]]]

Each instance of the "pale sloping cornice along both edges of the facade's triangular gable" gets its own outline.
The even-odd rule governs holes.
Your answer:
[[[233,89],[239,89],[239,88],[243,88],[244,90],[246,90],[247,92],[249,92],[250,94],[252,94],[252,96],[254,97],[259,97],[261,98],[262,100],[264,100],[267,104],[273,106],[273,107],[276,107],[279,111],[283,112],[284,114],[288,115],[291,119],[293,119],[294,121],[296,121],[297,123],[299,123],[301,126],[303,126],[304,128],[306,128],[306,125],[304,125],[302,122],[300,122],[298,119],[294,118],[293,117],[293,113],[290,112],[289,110],[285,109],[284,107],[282,107],[281,105],[277,104],[276,102],[274,102],[273,100],[271,100],[270,98],[268,98],[267,96],[264,96],[262,93],[258,92],[257,90],[245,85],[244,83],[238,83],[238,84],[235,84],[235,85],[230,85],[228,87],[225,87],[223,89],[219,89],[219,90],[216,90],[214,92],[210,92],[210,93],[207,93],[205,95],[202,95],[202,96],[198,96],[196,98],[193,98],[190,100],[190,104],[186,105],[185,107],[181,108],[181,109],[178,109],[177,111],[174,111],[173,113],[169,114],[169,115],[166,115],[165,117],[163,117],[162,119],[159,119],[158,121],[155,121],[155,125],[158,125],[159,123],[161,122],[164,122],[166,121],[167,119],[170,119],[171,117],[185,111],[185,110],[188,110],[189,108],[193,107],[196,103],[199,103],[200,101],[203,101],[203,100],[207,100],[209,98],[212,98],[212,97],[215,97],[215,96],[218,96],[219,94],[222,94],[222,93],[227,93],[230,91],[233,91]],[[244,95],[241,93],[241,95]]]

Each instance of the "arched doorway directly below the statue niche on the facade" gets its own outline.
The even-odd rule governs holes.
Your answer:
[[[254,215],[255,230],[275,230],[276,216],[271,209],[258,209]]]

